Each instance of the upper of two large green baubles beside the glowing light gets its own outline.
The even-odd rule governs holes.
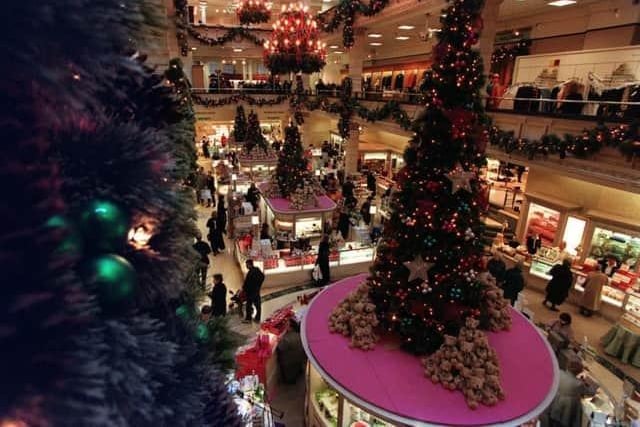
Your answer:
[[[115,203],[93,200],[80,213],[85,246],[94,252],[114,252],[124,246],[129,219]]]

